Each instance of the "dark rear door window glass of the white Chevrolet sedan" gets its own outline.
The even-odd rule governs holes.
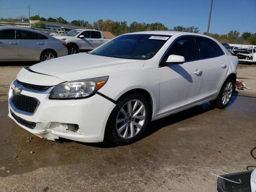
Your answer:
[[[207,59],[217,56],[215,42],[208,38],[198,37],[201,59]]]

